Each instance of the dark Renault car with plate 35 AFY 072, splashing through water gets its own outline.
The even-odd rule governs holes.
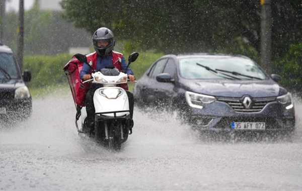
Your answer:
[[[280,80],[242,55],[165,55],[133,94],[137,106],[178,111],[197,130],[293,132],[292,96]]]

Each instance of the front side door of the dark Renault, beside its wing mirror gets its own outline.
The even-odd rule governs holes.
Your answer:
[[[165,64],[165,67],[161,73],[168,73],[172,79],[175,79],[176,75],[176,63],[173,58],[169,58]],[[171,106],[172,98],[174,96],[174,83],[173,82],[156,82],[155,97],[163,107]]]

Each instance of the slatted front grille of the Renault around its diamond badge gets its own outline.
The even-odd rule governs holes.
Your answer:
[[[249,109],[243,105],[241,98],[217,98],[217,100],[228,104],[235,112],[254,113],[260,112],[268,103],[275,102],[276,98],[255,98]]]

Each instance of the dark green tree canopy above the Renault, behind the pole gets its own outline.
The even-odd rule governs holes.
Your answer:
[[[63,0],[64,18],[93,33],[110,28],[120,40],[166,53],[219,51],[240,46],[260,52],[260,1]],[[272,1],[272,51],[282,56],[301,39],[299,0]],[[284,38],[285,37],[285,38]],[[228,50],[226,50],[228,51]]]

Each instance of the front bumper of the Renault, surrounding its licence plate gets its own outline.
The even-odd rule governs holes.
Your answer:
[[[200,131],[257,131],[257,132],[291,132],[295,126],[294,108],[286,110],[277,102],[267,104],[262,111],[254,113],[235,112],[230,106],[216,102],[203,109],[187,110],[187,122],[193,129]],[[265,123],[265,130],[234,130],[233,122]]]

